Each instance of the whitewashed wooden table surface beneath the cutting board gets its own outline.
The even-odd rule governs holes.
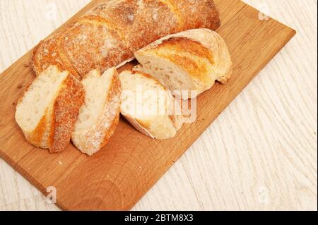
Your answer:
[[[0,0],[0,71],[88,1]],[[317,0],[245,1],[298,35],[135,210],[317,210]],[[0,209],[58,207],[0,159]]]

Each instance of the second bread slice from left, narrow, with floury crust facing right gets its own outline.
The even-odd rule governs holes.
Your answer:
[[[122,88],[115,68],[101,74],[93,70],[82,80],[85,104],[72,134],[72,142],[88,155],[104,147],[119,122],[120,94]]]

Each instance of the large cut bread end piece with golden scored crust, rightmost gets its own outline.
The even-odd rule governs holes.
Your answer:
[[[182,99],[196,97],[216,80],[227,83],[232,74],[225,41],[203,28],[168,35],[136,51],[135,56],[141,66],[134,70],[153,75]]]

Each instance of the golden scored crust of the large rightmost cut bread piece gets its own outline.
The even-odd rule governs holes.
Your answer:
[[[140,49],[136,55],[156,55],[167,59],[204,83],[211,80],[206,76],[211,66],[228,69],[227,64],[232,64],[224,40],[218,33],[208,29],[168,35]]]

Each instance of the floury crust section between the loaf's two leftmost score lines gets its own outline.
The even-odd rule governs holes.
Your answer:
[[[62,37],[61,48],[81,77],[95,68],[106,71],[132,54],[117,32],[95,20],[75,23]]]

